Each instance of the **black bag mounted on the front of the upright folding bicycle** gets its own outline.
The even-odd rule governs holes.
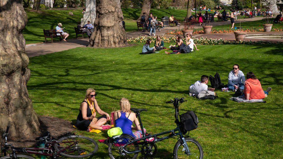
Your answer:
[[[191,110],[180,115],[180,129],[183,134],[186,134],[187,131],[196,129],[198,123],[199,120],[197,119],[197,115]]]

